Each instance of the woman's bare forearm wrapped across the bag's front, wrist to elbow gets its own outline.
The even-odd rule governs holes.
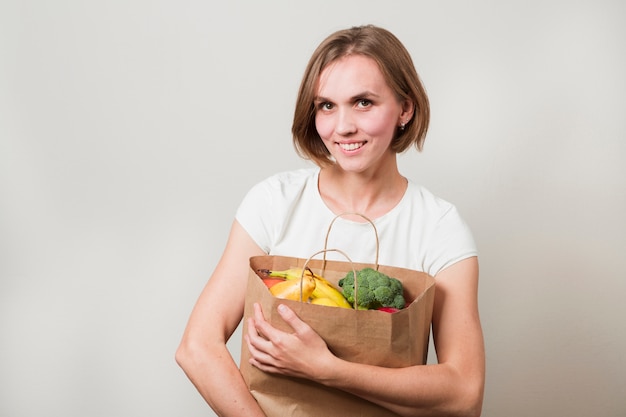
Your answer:
[[[478,416],[482,373],[461,373],[451,365],[401,369],[337,359],[322,376],[323,384],[350,392],[401,416]]]

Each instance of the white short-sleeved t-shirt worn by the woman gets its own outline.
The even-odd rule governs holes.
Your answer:
[[[275,174],[252,187],[241,202],[237,221],[269,255],[308,259],[324,249],[336,214],[320,196],[318,175],[319,168]],[[380,265],[435,276],[447,266],[477,255],[472,233],[456,208],[410,180],[402,200],[372,221],[379,237]],[[374,263],[374,228],[367,221],[337,218],[327,249],[339,249],[353,262]],[[326,258],[346,261],[337,252],[327,252]]]

